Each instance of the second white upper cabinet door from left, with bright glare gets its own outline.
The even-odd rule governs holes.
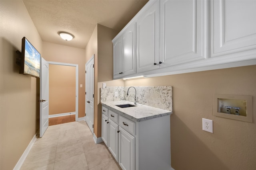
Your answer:
[[[124,75],[136,73],[136,23],[133,23],[122,35]]]

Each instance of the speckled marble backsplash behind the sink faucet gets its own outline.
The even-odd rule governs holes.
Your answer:
[[[134,86],[136,88],[136,97],[138,104],[152,106],[160,109],[172,111],[172,86]],[[134,102],[135,90],[129,87],[106,87],[100,88],[100,101],[126,100]],[[115,92],[118,93],[115,97]]]

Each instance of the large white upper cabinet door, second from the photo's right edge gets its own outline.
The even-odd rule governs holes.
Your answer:
[[[204,59],[204,0],[160,1],[160,68]]]

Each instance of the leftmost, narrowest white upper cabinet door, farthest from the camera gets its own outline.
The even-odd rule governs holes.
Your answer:
[[[122,76],[122,37],[113,42],[113,77]]]

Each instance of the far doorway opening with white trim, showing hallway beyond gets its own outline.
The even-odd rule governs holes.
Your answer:
[[[48,63],[49,125],[78,121],[78,64]]]

